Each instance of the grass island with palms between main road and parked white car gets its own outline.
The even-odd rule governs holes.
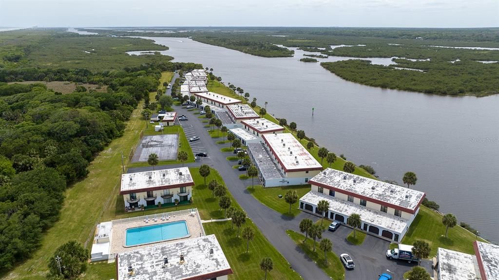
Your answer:
[[[286,230],[287,235],[291,238],[296,245],[298,245],[303,252],[314,261],[317,266],[323,270],[331,279],[333,280],[343,280],[345,279],[345,269],[340,262],[340,259],[332,251],[327,252],[327,264],[324,259],[324,252],[319,249],[319,242],[315,244],[315,252],[313,252],[313,240],[307,238],[305,242],[305,236],[299,234],[292,230]],[[334,247],[334,244],[333,244]]]

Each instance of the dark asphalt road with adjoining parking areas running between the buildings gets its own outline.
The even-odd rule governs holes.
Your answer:
[[[305,212],[300,213],[297,217],[289,218],[283,216],[274,210],[265,207],[257,201],[246,187],[251,184],[251,180],[240,180],[239,175],[244,171],[239,171],[232,168],[234,162],[229,162],[226,157],[233,155],[232,152],[221,152],[220,148],[228,146],[228,144],[220,145],[211,139],[210,135],[200,119],[199,115],[193,113],[197,111],[187,111],[185,108],[176,107],[179,115],[186,115],[189,121],[180,122],[184,130],[192,136],[199,136],[201,140],[191,142],[191,146],[196,151],[206,151],[208,157],[201,157],[197,162],[188,163],[186,166],[199,166],[208,164],[217,169],[224,178],[225,184],[229,188],[234,198],[238,201],[241,207],[246,211],[248,217],[256,224],[268,241],[286,258],[290,267],[300,274],[305,280],[326,280],[330,279],[324,272],[319,269],[315,263],[309,260],[301,249],[287,237],[286,229],[291,229],[299,232],[299,222],[304,218],[311,218],[317,221],[319,217]],[[182,166],[179,164],[178,166]],[[157,166],[156,168],[160,168]],[[174,165],[166,165],[166,168],[176,167]],[[129,169],[128,172],[138,172],[151,170],[151,167],[140,167]],[[390,270],[394,273],[394,279],[402,279],[402,275],[411,269],[415,264],[408,264],[404,261],[388,260],[386,258],[386,250],[389,247],[389,242],[383,239],[367,235],[364,243],[361,246],[351,245],[346,241],[346,236],[351,232],[351,229],[346,226],[340,226],[335,232],[326,231],[323,233],[323,238],[329,238],[333,243],[333,251],[336,255],[343,253],[349,254],[355,263],[355,269],[345,272],[346,280],[376,280],[378,275]],[[430,261],[423,261],[421,264],[431,273]]]

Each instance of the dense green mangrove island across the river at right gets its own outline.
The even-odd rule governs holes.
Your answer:
[[[323,62],[321,66],[341,78],[369,86],[448,95],[489,95],[499,90],[499,63],[411,62],[425,65],[425,72],[399,70],[368,60]],[[421,64],[424,63],[424,64]],[[404,67],[403,65],[397,65]],[[413,67],[416,68],[416,67]]]

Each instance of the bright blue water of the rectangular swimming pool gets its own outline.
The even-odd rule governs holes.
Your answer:
[[[126,230],[126,246],[141,245],[189,236],[186,221],[131,228]]]

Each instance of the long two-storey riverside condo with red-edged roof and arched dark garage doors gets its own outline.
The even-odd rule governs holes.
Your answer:
[[[359,214],[362,230],[396,242],[406,234],[425,198],[421,191],[331,168],[309,183],[311,190],[300,198],[300,209],[322,215],[317,205],[325,200],[327,218],[346,223],[351,214]]]

